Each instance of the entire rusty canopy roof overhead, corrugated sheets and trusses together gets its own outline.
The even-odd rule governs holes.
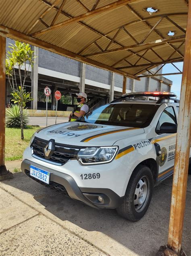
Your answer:
[[[140,79],[155,66],[183,61],[187,12],[187,0],[1,0],[0,30]]]

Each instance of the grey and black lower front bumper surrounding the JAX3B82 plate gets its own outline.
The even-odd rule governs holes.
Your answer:
[[[27,174],[33,180],[58,190],[62,194],[71,197],[72,199],[81,201],[94,208],[110,208],[114,209],[121,205],[124,197],[119,197],[114,191],[109,188],[80,188],[75,180],[68,174],[60,173],[59,171],[50,169],[46,167],[46,171],[50,172],[50,184],[46,184],[30,176],[30,165],[34,165],[40,169],[45,167],[29,161],[27,159],[23,160],[21,164],[22,171]],[[98,201],[98,197],[103,198],[102,202]]]

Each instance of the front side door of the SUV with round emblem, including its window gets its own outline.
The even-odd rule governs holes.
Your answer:
[[[158,120],[156,131],[160,130],[163,123],[177,125],[176,114],[173,106],[165,108]],[[176,133],[162,133],[154,138],[154,143],[160,146],[161,154],[158,156],[158,180],[163,180],[173,173],[176,149]]]

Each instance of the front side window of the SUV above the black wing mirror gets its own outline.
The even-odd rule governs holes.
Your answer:
[[[174,109],[172,107],[165,108],[165,110],[162,112],[162,114],[159,118],[158,124],[156,126],[156,130],[159,130],[160,126],[166,122],[172,123],[172,124],[177,124]]]

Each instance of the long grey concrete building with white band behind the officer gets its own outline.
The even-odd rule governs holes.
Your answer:
[[[13,40],[7,38],[6,47]],[[85,91],[91,106],[97,107],[112,101],[122,94],[123,76],[102,70],[61,55],[33,47],[33,67],[29,69],[25,86],[31,91],[33,101],[28,104],[31,109],[46,109],[44,88],[50,87],[52,96],[49,97],[48,109],[55,110],[54,92],[59,90],[67,102],[58,102],[58,110],[71,110],[75,104],[75,93]],[[156,67],[152,72],[156,72]],[[160,69],[162,72],[162,69]],[[149,74],[148,72],[144,74]],[[131,91],[170,91],[172,81],[163,76],[144,77],[140,81],[127,78],[126,93]],[[6,104],[10,104],[10,86],[7,81]]]

